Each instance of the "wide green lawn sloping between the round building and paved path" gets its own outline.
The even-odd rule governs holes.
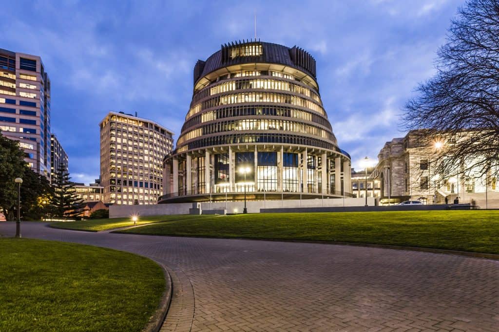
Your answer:
[[[320,240],[499,254],[499,211],[260,213],[176,220],[124,233]]]

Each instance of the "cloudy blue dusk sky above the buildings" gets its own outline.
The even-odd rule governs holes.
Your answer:
[[[401,137],[399,116],[464,0],[10,1],[0,48],[40,55],[51,79],[52,132],[75,181],[99,176],[109,110],[152,119],[178,137],[192,69],[222,43],[299,45],[317,61],[324,107],[352,164]]]

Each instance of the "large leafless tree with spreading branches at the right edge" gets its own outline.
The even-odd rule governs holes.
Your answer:
[[[436,67],[406,104],[406,129],[427,129],[438,173],[490,173],[499,166],[499,0],[459,9]]]

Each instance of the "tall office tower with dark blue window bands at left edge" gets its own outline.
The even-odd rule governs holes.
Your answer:
[[[39,56],[0,49],[0,131],[50,179],[50,80]]]

